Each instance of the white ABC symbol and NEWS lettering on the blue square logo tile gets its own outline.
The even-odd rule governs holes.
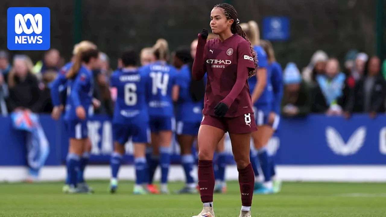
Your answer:
[[[27,27],[27,21],[30,21],[31,25]],[[16,14],[15,15],[15,44],[42,44],[43,36],[36,36],[43,31],[43,17],[41,14]],[[30,35],[35,33],[35,36],[20,36],[20,34]]]

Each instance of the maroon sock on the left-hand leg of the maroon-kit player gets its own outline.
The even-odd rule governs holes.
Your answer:
[[[198,186],[200,187],[201,201],[203,203],[213,202],[213,189],[215,188],[213,161],[198,161]]]

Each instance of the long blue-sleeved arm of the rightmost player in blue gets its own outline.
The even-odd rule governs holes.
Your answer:
[[[272,70],[271,83],[273,88],[274,100],[272,101],[272,112],[280,114],[280,104],[283,98],[283,70],[276,64]]]

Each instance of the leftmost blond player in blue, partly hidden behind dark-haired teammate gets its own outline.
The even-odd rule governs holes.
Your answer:
[[[90,41],[81,41],[79,44],[76,44],[73,49],[72,61],[63,66],[63,68],[59,72],[56,79],[51,83],[51,98],[52,98],[52,104],[54,105],[54,108],[51,114],[52,119],[58,120],[64,108],[64,105],[66,105],[66,95],[70,93],[66,91],[67,85],[68,85],[66,73],[71,68],[71,66],[73,66],[73,63],[76,59],[76,54],[80,53],[81,51],[85,51],[87,49],[96,49],[96,48],[97,46]],[[98,107],[98,105],[100,105],[98,100],[93,99],[93,106]],[[82,154],[80,159],[80,170],[78,171],[78,190],[80,190],[80,192],[93,192],[93,189],[86,184],[84,179],[84,171],[88,163],[90,151],[91,151],[91,141],[90,139],[87,139],[85,151]],[[69,190],[69,176],[67,176],[66,184],[63,186],[63,192],[68,193],[68,190]]]

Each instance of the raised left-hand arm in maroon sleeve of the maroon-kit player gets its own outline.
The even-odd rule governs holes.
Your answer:
[[[197,51],[192,67],[192,78],[196,81],[201,80],[207,71],[205,65],[205,50],[207,49],[206,44],[207,39],[198,35]]]

